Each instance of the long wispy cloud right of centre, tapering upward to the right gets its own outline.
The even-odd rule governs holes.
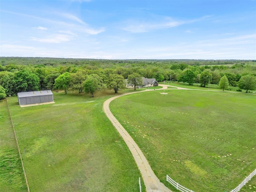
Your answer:
[[[163,21],[158,21],[158,22],[134,22],[134,21],[130,21],[128,26],[122,28],[123,30],[129,31],[129,32],[133,32],[133,33],[143,33],[143,32],[148,32],[150,30],[159,30],[159,29],[164,29],[164,28],[172,28],[172,27],[176,27],[179,25],[183,25],[183,24],[190,24],[190,23],[194,23],[194,22],[198,22],[201,20],[204,20],[206,18],[209,18],[211,16],[203,16],[201,18],[198,19],[194,19],[194,20],[173,20],[170,17],[166,17],[164,19],[162,19]]]

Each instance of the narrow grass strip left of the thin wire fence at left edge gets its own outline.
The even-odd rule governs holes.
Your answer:
[[[0,100],[0,191],[25,192],[26,183],[6,100]]]

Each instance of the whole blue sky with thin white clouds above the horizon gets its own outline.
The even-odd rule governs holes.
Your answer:
[[[256,0],[0,0],[0,56],[256,59]]]

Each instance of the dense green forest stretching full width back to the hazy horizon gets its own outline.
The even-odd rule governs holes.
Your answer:
[[[158,82],[172,80],[188,84],[200,83],[201,86],[207,86],[208,83],[219,84],[220,79],[225,76],[230,86],[254,90],[256,60],[0,57],[0,92],[5,92],[7,96],[15,96],[18,92],[62,88],[65,91],[77,90],[80,93],[86,90],[86,80],[87,86],[88,83],[97,81],[98,86],[102,88],[113,88],[109,85],[116,83],[117,78],[126,79],[134,73],[141,77],[155,78]],[[118,76],[113,76],[114,74]],[[244,85],[246,80],[247,84],[250,84],[249,87]]]

